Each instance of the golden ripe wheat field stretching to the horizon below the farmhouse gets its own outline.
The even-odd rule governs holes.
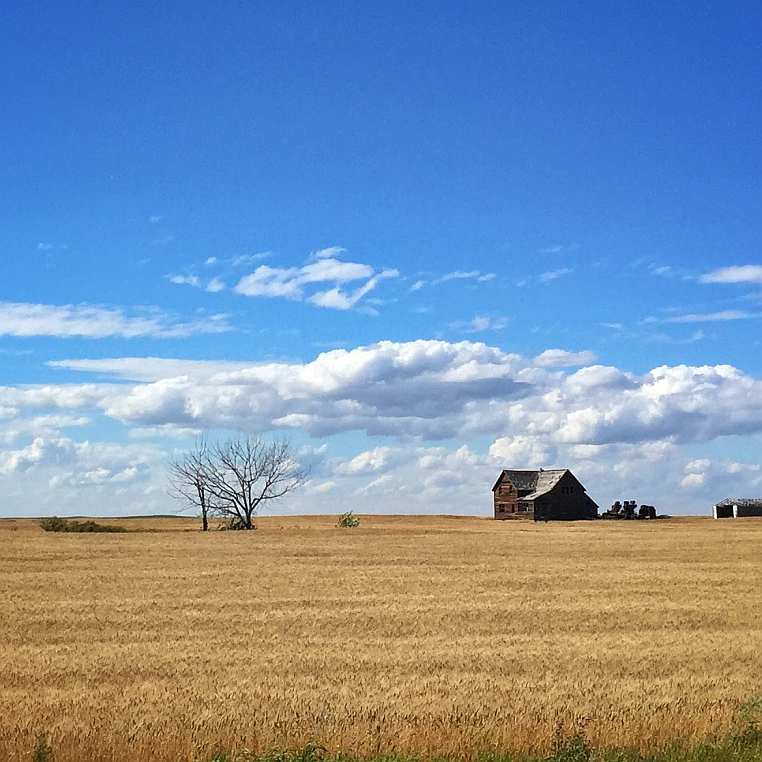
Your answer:
[[[335,520],[0,522],[0,759],[643,748],[762,688],[762,520]]]

